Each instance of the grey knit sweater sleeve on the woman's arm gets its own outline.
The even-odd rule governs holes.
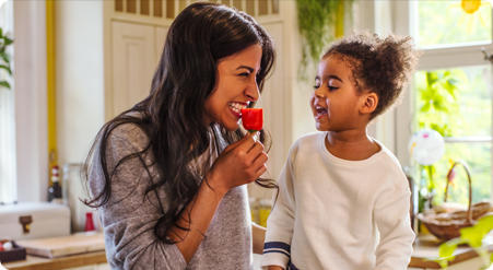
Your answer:
[[[138,128],[114,130],[106,145],[109,175],[121,159],[141,151],[146,143],[146,137]],[[156,175],[149,166],[151,162],[150,154],[138,155],[118,166],[111,177],[109,201],[98,209],[111,269],[175,270],[187,267],[180,250],[175,245],[163,244],[154,234],[154,226],[166,206],[162,206],[164,210],[161,207],[165,201],[163,190],[146,193],[153,181],[149,174]],[[93,164],[90,187],[94,198],[105,185],[98,152]]]

